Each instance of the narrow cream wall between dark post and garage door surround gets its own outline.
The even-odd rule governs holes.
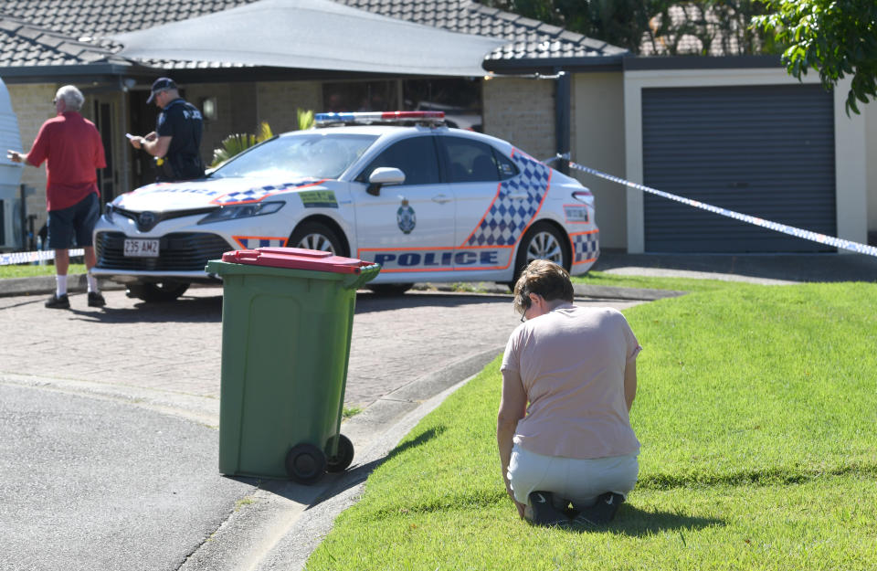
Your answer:
[[[573,77],[571,156],[609,174],[624,176],[624,79],[618,72]],[[624,186],[580,171],[570,174],[594,193],[600,248],[627,247]]]

